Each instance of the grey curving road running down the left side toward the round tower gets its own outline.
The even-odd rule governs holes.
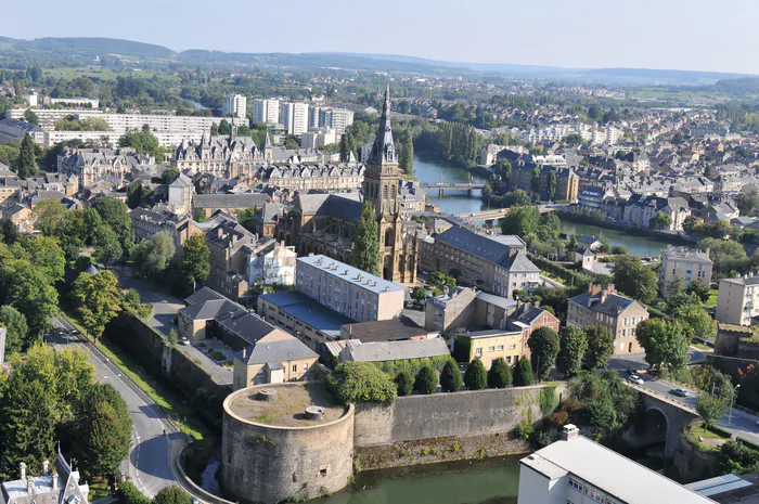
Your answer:
[[[63,318],[53,318],[57,328],[74,327]],[[79,336],[81,338],[81,336]],[[110,383],[118,390],[129,408],[132,418],[132,450],[127,467],[129,478],[145,495],[155,496],[165,487],[177,483],[173,474],[175,453],[184,438],[171,425],[164,412],[140,390],[119,369],[89,341],[74,340],[65,336],[50,335],[48,343],[61,350],[65,347],[82,348],[90,354],[95,376],[101,383]],[[164,429],[167,435],[164,436]]]

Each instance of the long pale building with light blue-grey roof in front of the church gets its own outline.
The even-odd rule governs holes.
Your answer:
[[[297,259],[296,290],[356,322],[395,319],[406,288],[326,256]]]

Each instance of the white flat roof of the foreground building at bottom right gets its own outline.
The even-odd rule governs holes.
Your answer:
[[[530,456],[550,464],[536,464]],[[548,477],[555,476],[556,468],[564,469],[627,504],[713,504],[691,489],[582,436],[556,441],[520,462]],[[545,471],[541,470],[543,468]]]

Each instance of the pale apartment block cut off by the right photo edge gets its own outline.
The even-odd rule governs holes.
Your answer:
[[[757,315],[759,315],[759,275],[748,273],[734,279],[720,280],[715,313],[718,322],[751,325]]]

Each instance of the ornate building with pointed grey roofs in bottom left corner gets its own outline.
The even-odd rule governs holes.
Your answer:
[[[55,462],[42,461],[42,474],[27,474],[26,464],[20,464],[21,478],[0,483],[0,502],[3,504],[88,504],[90,488],[79,483],[80,475],[63,456],[59,445]]]

